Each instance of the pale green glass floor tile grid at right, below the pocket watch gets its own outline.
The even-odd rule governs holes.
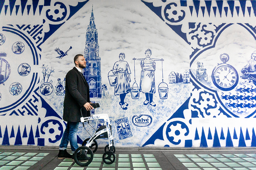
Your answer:
[[[256,154],[174,154],[189,170],[256,170]]]

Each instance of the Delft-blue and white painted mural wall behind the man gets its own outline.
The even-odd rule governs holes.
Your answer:
[[[1,1],[0,144],[60,144],[84,54],[116,147],[256,146],[255,16],[255,1]]]

